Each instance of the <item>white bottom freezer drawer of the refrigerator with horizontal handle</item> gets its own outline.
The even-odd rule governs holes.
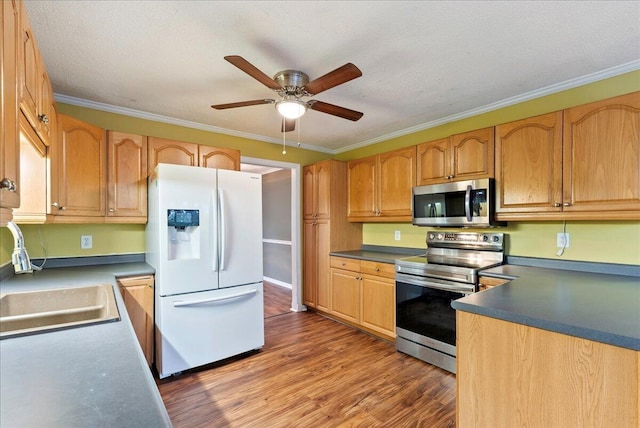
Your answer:
[[[262,283],[156,299],[160,378],[264,346]]]

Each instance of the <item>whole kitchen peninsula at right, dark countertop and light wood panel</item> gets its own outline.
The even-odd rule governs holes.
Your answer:
[[[505,265],[457,310],[458,426],[638,426],[637,276]]]

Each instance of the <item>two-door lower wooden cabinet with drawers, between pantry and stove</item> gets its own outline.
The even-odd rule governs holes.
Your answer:
[[[395,339],[393,264],[331,257],[330,287],[331,315],[384,339]]]

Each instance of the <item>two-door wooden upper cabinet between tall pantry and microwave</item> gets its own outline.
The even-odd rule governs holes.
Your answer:
[[[411,221],[416,147],[349,161],[349,221]]]

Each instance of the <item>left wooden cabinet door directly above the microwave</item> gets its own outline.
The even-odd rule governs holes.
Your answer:
[[[453,170],[449,156],[449,138],[429,141],[416,147],[418,186],[444,183]]]

